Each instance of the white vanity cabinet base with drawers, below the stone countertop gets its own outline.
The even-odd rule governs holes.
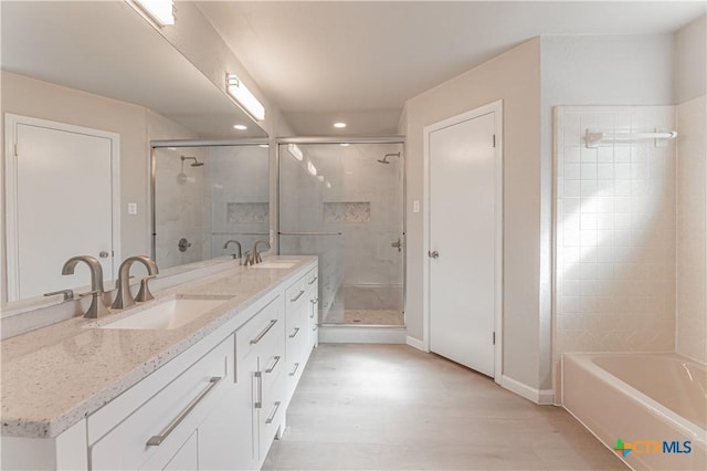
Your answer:
[[[260,469],[316,343],[307,266],[59,436],[3,436],[1,468]]]

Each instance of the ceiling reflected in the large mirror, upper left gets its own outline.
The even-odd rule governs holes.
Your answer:
[[[145,106],[202,138],[266,136],[124,1],[1,8],[3,71]]]

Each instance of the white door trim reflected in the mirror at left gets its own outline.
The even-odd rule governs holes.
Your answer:
[[[30,116],[4,115],[4,211],[6,211],[6,244],[7,244],[7,283],[8,300],[17,301],[20,294],[18,280],[20,279],[20,266],[18,261],[18,168],[14,160],[14,146],[18,142],[18,125],[29,125],[56,129],[66,133],[83,134],[93,137],[102,137],[110,140],[110,174],[112,174],[112,196],[113,196],[113,279],[117,276],[116,266],[120,259],[120,136],[117,133],[92,129],[89,127],[75,126],[72,124],[57,123],[48,119],[40,119]],[[86,214],[89,223],[91,214]],[[78,255],[78,254],[77,254]],[[57,268],[57,270],[61,268]]]

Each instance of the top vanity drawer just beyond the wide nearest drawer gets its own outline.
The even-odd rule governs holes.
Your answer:
[[[282,315],[282,299],[271,301],[255,316],[235,331],[238,357],[245,358],[258,346],[271,344],[273,337],[283,342],[284,325]]]

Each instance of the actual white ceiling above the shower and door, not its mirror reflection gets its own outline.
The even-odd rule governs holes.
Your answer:
[[[704,14],[705,4],[199,2],[298,135],[394,134],[407,100],[530,38],[669,33]],[[334,129],[335,121],[349,126]]]

